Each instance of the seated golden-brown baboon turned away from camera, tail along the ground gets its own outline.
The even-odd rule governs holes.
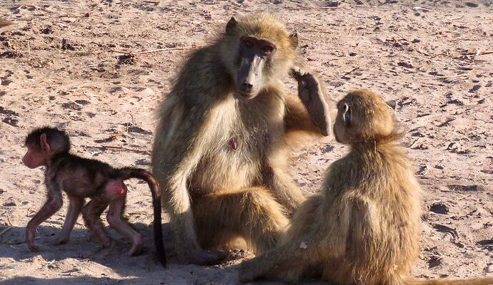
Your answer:
[[[492,285],[492,278],[409,276],[419,254],[422,190],[398,141],[393,112],[369,90],[349,93],[337,110],[334,136],[351,151],[329,167],[322,193],[299,207],[279,246],[241,264],[240,281],[297,282],[319,271],[341,285]]]

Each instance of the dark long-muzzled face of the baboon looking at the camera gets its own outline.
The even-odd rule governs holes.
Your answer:
[[[262,89],[275,50],[270,41],[250,36],[239,38],[236,90],[242,97],[252,99]]]

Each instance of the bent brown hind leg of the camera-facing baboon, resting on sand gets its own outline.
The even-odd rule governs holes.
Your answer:
[[[282,205],[263,187],[216,192],[194,202],[199,243],[206,249],[242,237],[249,250],[261,254],[279,242],[289,222]]]

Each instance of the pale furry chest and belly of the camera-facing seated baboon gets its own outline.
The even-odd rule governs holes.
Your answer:
[[[275,110],[265,113],[256,107],[232,103],[217,110],[216,124],[209,133],[209,150],[201,157],[192,180],[200,192],[258,183],[262,165],[284,131],[284,114]]]

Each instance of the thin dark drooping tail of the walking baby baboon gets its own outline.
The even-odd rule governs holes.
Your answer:
[[[154,244],[156,244],[159,262],[166,267],[166,252],[164,251],[163,230],[161,227],[161,195],[156,177],[151,172],[136,167],[123,167],[119,169],[119,172],[123,180],[139,178],[147,182],[147,185],[151,188],[152,207],[154,209]]]

